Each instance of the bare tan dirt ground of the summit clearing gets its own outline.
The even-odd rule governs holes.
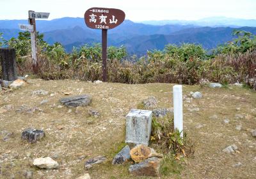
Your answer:
[[[0,178],[24,178],[25,171],[33,171],[33,178],[77,178],[84,173],[92,178],[148,178],[130,176],[129,164],[112,166],[111,160],[123,145],[129,110],[150,96],[157,98],[159,107],[172,107],[172,86],[30,79],[22,89],[0,93]],[[184,95],[189,91],[203,94],[200,99],[184,100],[184,130],[195,143],[195,155],[182,162],[180,174],[161,178],[256,178],[256,138],[251,133],[256,128],[256,93],[230,87],[184,86]],[[32,95],[38,89],[49,93]],[[65,107],[59,103],[67,97],[65,93],[90,94],[92,104]],[[48,102],[40,104],[42,100]],[[196,108],[199,111],[193,111]],[[90,117],[89,109],[99,111],[99,118]],[[209,118],[213,115],[215,119]],[[29,127],[44,130],[46,137],[35,144],[22,141],[21,132]],[[13,135],[4,141],[6,132]],[[238,152],[224,153],[231,144],[236,144]],[[85,171],[84,161],[98,155],[106,155],[108,161]],[[33,166],[33,159],[47,156],[60,167],[46,170]],[[241,165],[234,166],[239,162]]]

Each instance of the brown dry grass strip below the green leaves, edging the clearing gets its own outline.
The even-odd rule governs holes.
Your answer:
[[[68,59],[68,58],[67,58]],[[19,74],[31,74],[31,59],[24,59],[19,63]],[[51,61],[47,56],[40,55],[38,77],[46,80],[79,79],[81,81],[95,81],[102,78],[101,63],[88,59],[74,59],[67,61],[67,65],[60,65]],[[237,55],[220,55],[214,59],[180,59],[166,55],[157,61],[111,60],[108,63],[109,82],[128,84],[148,82],[168,82],[180,84],[198,84],[200,79],[206,78],[213,82],[233,84],[237,81],[248,82],[256,77],[256,51]]]

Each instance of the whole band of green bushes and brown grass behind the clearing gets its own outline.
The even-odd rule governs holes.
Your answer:
[[[234,31],[233,35],[232,42],[218,47],[212,54],[207,54],[200,45],[188,43],[166,45],[163,51],[148,51],[141,58],[127,57],[124,46],[108,47],[109,82],[196,84],[204,78],[223,84],[246,83],[256,76],[256,38],[244,31]],[[44,35],[37,33],[37,36],[39,77],[83,81],[102,78],[100,43],[85,44],[67,53],[60,43],[49,45],[44,42]],[[19,33],[18,38],[8,42],[0,35],[0,42],[16,49],[19,73],[31,73],[30,34]]]

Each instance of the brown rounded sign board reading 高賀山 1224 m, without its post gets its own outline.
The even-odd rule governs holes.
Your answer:
[[[90,8],[84,13],[86,26],[92,29],[113,29],[124,22],[125,13],[111,8]]]

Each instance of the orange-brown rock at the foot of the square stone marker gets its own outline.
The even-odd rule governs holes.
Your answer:
[[[163,157],[163,155],[156,153],[153,148],[145,146],[143,144],[137,145],[130,151],[130,155],[134,162],[142,162],[150,157]]]

